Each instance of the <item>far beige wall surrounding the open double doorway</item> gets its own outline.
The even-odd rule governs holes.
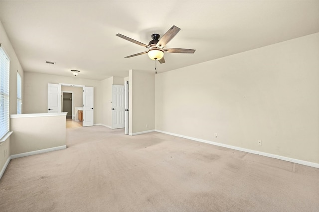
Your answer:
[[[100,82],[98,80],[88,80],[56,75],[40,74],[34,72],[24,73],[24,113],[45,113],[47,112],[47,84],[65,83],[94,87],[94,124],[102,123]]]

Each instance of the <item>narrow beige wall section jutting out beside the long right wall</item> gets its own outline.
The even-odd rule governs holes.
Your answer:
[[[130,133],[155,129],[155,74],[129,71]],[[132,121],[132,122],[131,122]]]

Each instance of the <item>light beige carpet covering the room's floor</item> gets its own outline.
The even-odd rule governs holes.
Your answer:
[[[0,211],[319,211],[316,168],[103,126],[68,128],[67,146],[11,160]]]

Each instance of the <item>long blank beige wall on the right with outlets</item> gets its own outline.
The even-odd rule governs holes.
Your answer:
[[[316,33],[156,75],[156,129],[319,163],[318,92]]]

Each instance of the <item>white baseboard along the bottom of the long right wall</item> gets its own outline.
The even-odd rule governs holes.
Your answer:
[[[271,154],[271,153],[267,153],[267,152],[260,152],[260,151],[256,151],[256,150],[252,150],[252,149],[241,148],[241,147],[237,147],[237,146],[232,146],[232,145],[223,144],[223,143],[217,143],[217,142],[208,141],[208,140],[199,139],[199,138],[193,138],[193,137],[189,137],[189,136],[185,136],[185,135],[179,135],[179,134],[175,134],[175,133],[171,133],[171,132],[165,132],[165,131],[161,131],[161,130],[157,130],[157,129],[155,131],[156,132],[160,132],[160,133],[164,133],[164,134],[168,134],[168,135],[181,137],[181,138],[186,138],[186,139],[189,139],[189,140],[194,140],[194,141],[199,141],[199,142],[203,142],[203,143],[208,143],[208,144],[212,144],[212,145],[215,145],[215,146],[221,146],[221,147],[225,147],[225,148],[229,148],[229,149],[239,150],[239,151],[242,151],[242,152],[248,152],[248,153],[252,153],[252,154],[256,154],[256,155],[262,155],[262,156],[266,156],[266,157],[270,157],[270,158],[276,158],[276,159],[279,159],[279,160],[289,161],[289,162],[292,162],[292,163],[298,163],[298,164],[305,165],[305,166],[311,166],[311,167],[319,168],[319,163],[299,160],[299,159],[295,159],[295,158],[289,158],[289,157],[285,157],[285,156],[281,156],[281,155],[275,155],[275,154]]]

